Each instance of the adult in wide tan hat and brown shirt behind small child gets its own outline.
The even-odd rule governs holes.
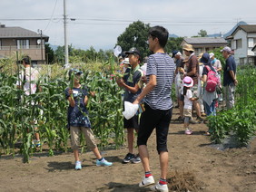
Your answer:
[[[189,66],[187,69],[187,72],[184,74],[184,76],[190,76],[193,80],[193,86],[192,86],[192,94],[193,97],[199,97],[198,95],[198,76],[199,76],[199,64],[198,59],[194,54],[194,50],[192,49],[192,44],[184,44],[182,47],[184,53],[186,56],[189,57]],[[193,106],[196,110],[197,119],[198,121],[202,121],[201,117],[201,110],[200,110],[200,103],[198,100],[193,101]]]

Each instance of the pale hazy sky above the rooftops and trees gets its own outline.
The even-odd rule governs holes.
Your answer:
[[[64,45],[63,4],[64,0],[2,0],[0,23],[41,29],[49,43]],[[66,0],[68,43],[82,49],[112,49],[125,28],[138,20],[162,25],[179,36],[196,35],[201,29],[225,34],[238,21],[256,24],[255,7],[252,0]]]

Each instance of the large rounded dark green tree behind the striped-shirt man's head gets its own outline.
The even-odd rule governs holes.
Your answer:
[[[133,24],[129,24],[123,34],[117,37],[117,44],[122,47],[123,51],[136,47],[144,57],[149,54],[147,44],[149,29],[149,24],[143,24],[141,21],[133,22]]]

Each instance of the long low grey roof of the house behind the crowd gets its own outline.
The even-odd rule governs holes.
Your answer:
[[[188,44],[227,43],[227,41],[222,37],[192,37],[192,38],[184,38],[184,41]]]

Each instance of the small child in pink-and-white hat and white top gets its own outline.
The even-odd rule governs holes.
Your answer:
[[[186,76],[183,81],[183,95],[184,95],[184,110],[183,110],[183,115],[184,115],[184,129],[185,129],[185,134],[186,135],[191,135],[192,130],[189,129],[190,125],[190,120],[192,119],[192,101],[198,100],[198,98],[193,98],[192,97],[192,91],[191,87],[193,86],[193,81],[192,78],[189,76]]]

